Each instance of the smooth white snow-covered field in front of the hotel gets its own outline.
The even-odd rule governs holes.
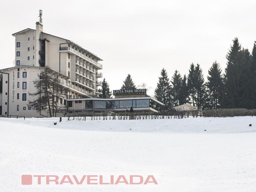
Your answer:
[[[22,185],[22,175],[153,175],[158,184]],[[256,117],[0,118],[0,191],[255,192]]]

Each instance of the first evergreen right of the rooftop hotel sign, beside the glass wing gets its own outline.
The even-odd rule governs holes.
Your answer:
[[[171,104],[170,90],[171,90],[171,86],[170,86],[168,74],[166,70],[163,68],[161,71],[161,76],[159,77],[159,81],[155,89],[156,100],[165,104],[165,106],[163,107],[156,106],[156,108],[159,111],[172,109],[173,106]]]

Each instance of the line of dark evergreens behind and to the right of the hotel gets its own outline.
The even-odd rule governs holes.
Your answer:
[[[203,109],[219,108],[256,108],[256,42],[252,52],[242,48],[238,38],[226,55],[227,65],[222,72],[215,61],[208,70],[206,80],[200,64],[190,64],[188,75],[174,71],[171,79],[163,68],[154,90],[154,98],[165,104],[156,106],[158,110],[170,110],[181,104],[191,104]],[[104,79],[103,98],[111,97],[109,85]],[[135,89],[130,74],[124,80],[121,89]],[[101,97],[102,97],[101,96]]]

